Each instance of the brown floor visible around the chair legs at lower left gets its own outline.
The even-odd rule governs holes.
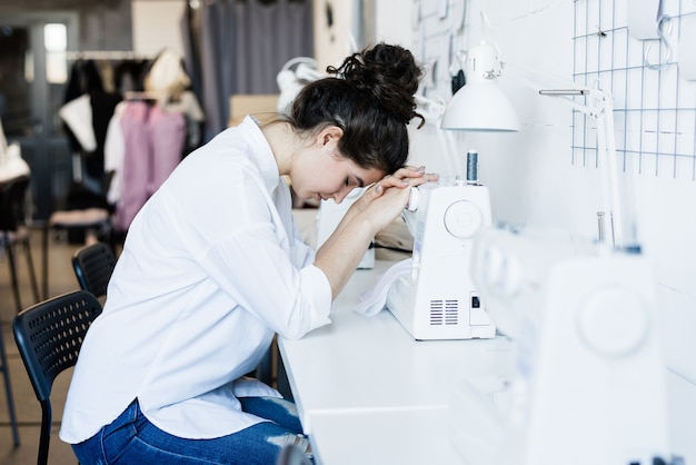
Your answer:
[[[78,289],[78,281],[72,271],[70,258],[80,245],[71,245],[64,236],[54,236],[49,241],[49,296],[56,296]],[[33,258],[37,279],[41,290],[41,236],[32,231],[31,254]],[[33,296],[29,285],[28,267],[23,251],[18,251],[18,273],[21,290],[22,306],[32,305]],[[8,353],[9,376],[14,397],[14,409],[19,423],[20,445],[12,444],[12,429],[8,415],[8,403],[4,393],[4,383],[0,383],[0,465],[26,465],[37,462],[39,449],[39,425],[41,424],[41,408],[37,400],[31,383],[24,372],[24,366],[17,352],[14,337],[12,336],[12,317],[16,315],[14,298],[10,286],[8,259],[0,251],[0,324],[2,338]],[[1,375],[1,374],[0,374]],[[68,385],[70,384],[71,370],[59,375],[53,384],[51,402],[53,405],[53,427],[51,432],[51,445],[49,448],[49,464],[76,465],[77,458],[70,446],[58,437],[60,419]]]

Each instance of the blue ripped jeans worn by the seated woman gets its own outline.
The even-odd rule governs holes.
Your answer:
[[[240,397],[242,409],[271,422],[262,422],[228,436],[213,439],[186,439],[152,425],[140,412],[138,400],[91,438],[73,444],[80,464],[91,465],[272,465],[278,457],[297,454],[308,457],[309,441],[295,414],[295,404],[270,397]],[[296,455],[294,455],[296,456]],[[298,464],[311,464],[301,457]]]

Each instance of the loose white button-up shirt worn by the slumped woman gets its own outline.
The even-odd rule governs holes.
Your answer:
[[[129,229],[80,352],[61,439],[91,437],[136,397],[180,437],[262,421],[240,412],[230,386],[274,333],[299,338],[330,323],[331,289],[314,257],[251,118],[189,155]]]

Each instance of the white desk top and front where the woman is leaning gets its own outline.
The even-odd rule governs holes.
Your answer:
[[[302,426],[324,465],[459,464],[447,426],[454,386],[508,373],[509,342],[416,342],[387,310],[352,311],[389,265],[356,271],[331,325],[279,340]]]

